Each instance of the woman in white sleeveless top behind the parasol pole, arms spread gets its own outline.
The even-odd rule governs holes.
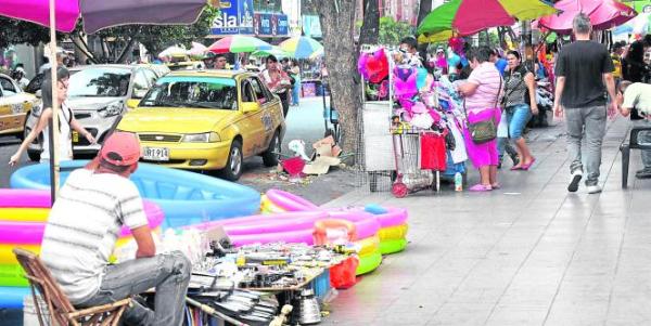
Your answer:
[[[65,100],[67,97],[67,87],[69,80],[69,73],[66,68],[61,67],[56,70],[58,77],[58,100],[61,103],[61,109],[59,110],[59,127],[54,127],[55,130],[59,130],[59,148],[56,148],[58,156],[60,160],[71,160],[73,159],[73,142],[71,138],[72,130],[76,130],[79,134],[84,135],[88,142],[91,144],[95,143],[94,138],[90,132],[88,132],[79,121],[75,119],[75,115],[73,110],[67,106]],[[43,132],[43,151],[41,153],[41,162],[46,162],[50,160],[50,130],[49,130],[49,121],[52,118],[52,92],[51,92],[51,79],[46,76],[43,84],[41,87],[42,92],[42,112],[41,116],[36,123],[36,127],[29,132],[29,134],[23,140],[21,147],[14,155],[11,156],[9,160],[10,166],[14,166],[20,159],[21,155],[27,146],[37,138],[37,135],[42,131]]]

